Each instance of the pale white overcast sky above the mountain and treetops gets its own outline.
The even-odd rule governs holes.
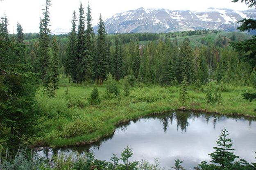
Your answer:
[[[78,13],[80,1],[87,7],[88,0],[51,0],[50,29],[71,29],[72,12]],[[97,24],[100,13],[104,20],[116,13],[131,9],[164,8],[173,10],[189,9],[203,11],[209,7],[229,8],[235,10],[248,9],[245,3],[232,0],[89,0],[92,9],[93,25]],[[0,16],[6,13],[9,20],[9,33],[16,33],[16,24],[23,26],[24,33],[39,32],[39,19],[42,16],[45,0],[2,0],[0,1]],[[85,9],[86,11],[86,9]],[[78,15],[77,15],[78,17]]]

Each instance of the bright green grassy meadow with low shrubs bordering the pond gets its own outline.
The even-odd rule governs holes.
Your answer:
[[[34,145],[59,147],[92,143],[111,135],[115,125],[120,122],[181,106],[224,115],[256,117],[253,111],[256,102],[248,102],[241,95],[253,91],[251,87],[226,85],[227,92],[222,92],[222,104],[207,104],[206,93],[193,91],[193,86],[190,86],[188,99],[185,104],[181,104],[179,87],[176,86],[135,87],[130,89],[128,97],[123,95],[122,81],[118,86],[121,94],[110,99],[105,86],[97,86],[101,103],[96,106],[89,103],[93,86],[68,84],[67,79],[61,79],[56,97],[51,99],[39,89],[36,100],[43,112],[40,118],[42,136],[36,139]]]

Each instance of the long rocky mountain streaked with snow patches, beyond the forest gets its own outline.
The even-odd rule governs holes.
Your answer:
[[[108,33],[172,32],[195,29],[221,29],[235,31],[244,18],[256,19],[256,11],[209,8],[205,11],[144,9],[117,13],[105,20]],[[95,31],[97,26],[95,26]]]

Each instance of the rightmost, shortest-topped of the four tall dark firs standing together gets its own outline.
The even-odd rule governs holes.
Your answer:
[[[97,40],[97,68],[98,68],[98,79],[100,80],[100,84],[104,81],[108,71],[108,59],[105,56],[106,54],[106,32],[105,32],[105,24],[100,14],[99,22],[98,22],[98,40]]]

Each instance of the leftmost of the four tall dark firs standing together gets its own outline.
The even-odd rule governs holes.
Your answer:
[[[66,59],[66,67],[65,71],[68,75],[68,80],[70,80],[70,75],[72,77],[72,81],[74,83],[77,82],[77,62],[76,62],[76,36],[77,32],[75,31],[76,28],[76,13],[73,12],[72,18],[72,29],[68,35],[68,49],[67,49],[67,59]]]

